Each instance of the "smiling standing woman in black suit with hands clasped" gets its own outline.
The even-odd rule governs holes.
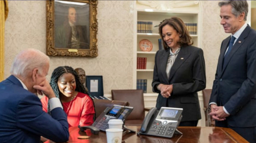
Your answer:
[[[159,93],[156,107],[183,108],[180,126],[197,126],[201,119],[197,92],[206,85],[204,54],[193,42],[178,17],[159,25],[163,50],[155,56],[153,92]]]

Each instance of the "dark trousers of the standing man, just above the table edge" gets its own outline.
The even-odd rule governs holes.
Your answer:
[[[229,126],[227,124],[227,120],[215,121],[215,126],[233,129],[239,135],[244,137],[244,139],[247,140],[249,143],[256,143],[256,126],[245,128]]]

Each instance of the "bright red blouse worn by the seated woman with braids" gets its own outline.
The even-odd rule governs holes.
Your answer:
[[[44,112],[47,112],[48,98],[41,98]],[[90,126],[93,124],[94,107],[93,100],[89,95],[78,93],[76,97],[63,104],[63,109],[67,113],[67,122],[70,126]]]

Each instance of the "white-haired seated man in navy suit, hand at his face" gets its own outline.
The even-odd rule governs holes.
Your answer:
[[[55,142],[69,139],[67,115],[46,76],[49,57],[39,50],[19,53],[11,73],[0,82],[0,143],[39,143],[40,136]],[[49,98],[51,116],[37,95]]]

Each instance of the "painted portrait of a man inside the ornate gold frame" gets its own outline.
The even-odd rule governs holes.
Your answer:
[[[89,5],[55,0],[55,48],[89,49]]]

